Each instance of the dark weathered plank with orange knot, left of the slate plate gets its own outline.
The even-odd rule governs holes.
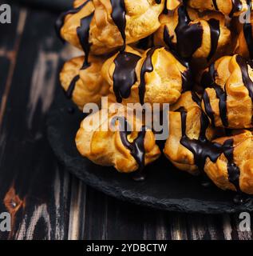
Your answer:
[[[60,171],[45,138],[61,65],[55,18],[28,11],[20,36],[0,134],[0,211],[10,212],[12,231],[0,238],[67,238],[69,174]]]

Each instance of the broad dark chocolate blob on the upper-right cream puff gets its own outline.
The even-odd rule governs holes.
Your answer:
[[[192,58],[192,55],[202,45],[204,31],[201,24],[190,25],[190,22],[186,5],[181,5],[178,8],[178,24],[175,32],[176,50],[183,58]]]

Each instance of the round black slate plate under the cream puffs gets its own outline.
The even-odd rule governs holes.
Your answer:
[[[251,202],[236,205],[235,194],[215,186],[204,187],[200,179],[185,174],[164,157],[147,167],[144,182],[134,182],[130,175],[111,167],[96,166],[78,153],[74,138],[83,114],[62,94],[54,102],[47,122],[49,143],[57,158],[70,172],[89,186],[115,198],[162,210],[206,214],[252,211]],[[71,111],[70,111],[71,112]]]

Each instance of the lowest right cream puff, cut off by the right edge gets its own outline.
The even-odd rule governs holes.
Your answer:
[[[253,194],[251,132],[239,130],[213,142],[223,145],[223,153],[216,162],[207,159],[204,170],[208,177],[223,190],[237,191],[239,198],[243,198],[244,194]],[[235,197],[238,202],[237,199],[238,196]]]

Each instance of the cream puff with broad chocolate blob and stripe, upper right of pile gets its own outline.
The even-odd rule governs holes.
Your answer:
[[[225,50],[231,38],[223,14],[200,14],[184,5],[174,14],[161,14],[160,23],[155,45],[168,46],[182,58],[210,62]]]

